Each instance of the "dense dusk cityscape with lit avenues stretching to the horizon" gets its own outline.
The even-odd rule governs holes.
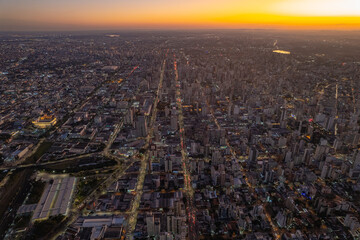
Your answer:
[[[360,239],[359,41],[0,34],[0,239]]]

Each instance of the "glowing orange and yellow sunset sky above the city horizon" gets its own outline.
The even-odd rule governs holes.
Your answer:
[[[360,0],[0,0],[0,30],[360,30]]]

